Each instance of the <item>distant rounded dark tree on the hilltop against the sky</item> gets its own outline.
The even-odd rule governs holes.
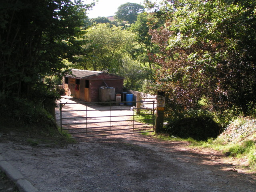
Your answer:
[[[139,13],[144,12],[144,7],[137,3],[126,3],[118,7],[114,18],[119,22],[127,21],[129,24],[137,20]]]

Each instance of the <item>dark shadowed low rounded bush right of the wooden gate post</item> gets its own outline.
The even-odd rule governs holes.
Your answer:
[[[217,138],[220,126],[210,117],[188,117],[173,121],[167,126],[168,132],[180,138],[207,140]]]

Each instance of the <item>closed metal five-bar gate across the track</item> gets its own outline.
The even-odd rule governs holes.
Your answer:
[[[145,103],[145,102],[144,102]],[[72,138],[154,132],[155,101],[60,103],[60,128]],[[145,108],[145,106],[147,106]]]

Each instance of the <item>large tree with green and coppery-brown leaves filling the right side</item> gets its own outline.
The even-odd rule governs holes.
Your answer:
[[[178,112],[202,100],[217,112],[252,114],[256,102],[256,2],[180,0],[151,32],[161,53],[157,81]]]

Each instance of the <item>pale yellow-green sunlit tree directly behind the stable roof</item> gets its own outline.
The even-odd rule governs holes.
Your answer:
[[[77,56],[77,66],[86,70],[116,73],[120,67],[122,54],[132,50],[134,34],[110,24],[96,24],[88,29],[86,39],[90,43],[85,49],[89,54]]]

